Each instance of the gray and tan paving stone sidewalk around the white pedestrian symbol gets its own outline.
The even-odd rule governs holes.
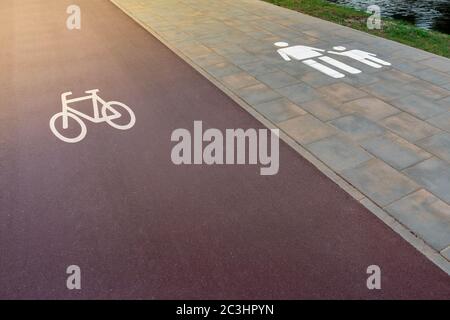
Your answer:
[[[450,260],[450,60],[258,0],[113,0]],[[377,54],[329,77],[275,42]]]

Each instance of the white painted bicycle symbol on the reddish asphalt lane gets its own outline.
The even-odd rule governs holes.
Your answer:
[[[89,120],[93,123],[101,123],[101,122],[107,122],[111,127],[119,129],[119,130],[128,130],[131,129],[134,124],[136,123],[136,116],[134,115],[133,111],[125,104],[117,101],[109,101],[106,102],[102,98],[100,98],[97,93],[100,90],[89,90],[86,91],[87,94],[89,94],[86,97],[80,97],[75,99],[68,99],[67,97],[72,95],[72,92],[66,92],[61,95],[61,101],[62,101],[62,111],[55,114],[50,119],[50,129],[52,130],[53,134],[61,139],[64,142],[67,143],[77,143],[83,140],[86,137],[87,134],[87,127],[86,124],[83,122],[81,118],[84,118],[86,120]],[[70,103],[85,101],[85,100],[91,100],[94,108],[94,117],[91,117],[87,114],[84,114],[76,109],[73,109],[68,106]],[[101,115],[99,111],[99,103],[102,105],[101,108]],[[118,111],[119,108],[124,109],[126,113],[129,114],[129,122],[126,124],[120,124],[117,122],[117,119],[122,118],[122,113]],[[110,114],[107,114],[110,113]],[[124,112],[124,113],[125,113]],[[60,119],[62,120],[62,128],[68,129],[69,128],[69,118],[72,118],[75,120],[76,123],[81,127],[80,134],[75,138],[68,138],[64,136],[64,134],[60,133],[56,127],[56,124],[59,123]],[[115,122],[116,120],[116,122]]]

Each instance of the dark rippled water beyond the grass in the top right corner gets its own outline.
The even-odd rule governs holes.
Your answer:
[[[450,0],[328,0],[366,10],[375,4],[382,17],[402,19],[425,29],[450,34]]]

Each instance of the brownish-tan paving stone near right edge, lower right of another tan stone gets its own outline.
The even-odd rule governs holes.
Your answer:
[[[410,142],[415,142],[440,132],[439,129],[405,112],[383,119],[380,123]]]

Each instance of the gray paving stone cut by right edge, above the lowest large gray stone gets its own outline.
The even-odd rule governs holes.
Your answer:
[[[403,171],[425,189],[450,203],[450,165],[438,158],[430,158]]]

